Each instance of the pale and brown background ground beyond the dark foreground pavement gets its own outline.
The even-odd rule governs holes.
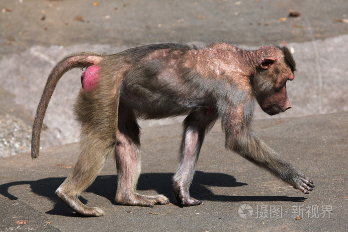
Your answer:
[[[46,78],[59,60],[77,51],[110,54],[154,42],[202,46],[214,39],[247,48],[285,42],[293,48],[298,70],[287,85],[294,107],[276,117],[348,111],[345,0],[136,0],[97,6],[83,0],[15,0],[1,1],[0,9],[0,121],[13,122],[0,124],[5,131],[0,156],[27,151]],[[288,17],[290,9],[301,15]],[[58,83],[44,120],[42,147],[78,141],[72,105],[80,76],[80,70],[73,70]],[[256,118],[267,115],[258,108]]]

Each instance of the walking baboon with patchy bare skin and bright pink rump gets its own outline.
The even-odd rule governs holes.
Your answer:
[[[190,197],[189,186],[204,136],[218,118],[227,149],[304,193],[313,190],[313,181],[267,147],[251,128],[254,97],[269,115],[291,108],[286,81],[294,79],[295,62],[286,47],[247,51],[226,43],[204,48],[169,43],[114,55],[69,55],[47,79],[33,125],[33,158],[39,155],[43,118],[55,86],[73,68],[86,68],[75,103],[81,124],[81,154],[56,194],[78,214],[104,214],[78,197],[95,180],[110,154],[115,155],[118,170],[116,202],[147,207],[169,203],[163,195],[144,196],[136,191],[141,166],[137,118],[187,115],[174,174],[174,195],[181,206],[201,204]]]

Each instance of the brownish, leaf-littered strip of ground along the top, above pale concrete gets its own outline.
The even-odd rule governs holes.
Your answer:
[[[22,3],[20,3],[22,2]],[[36,45],[82,43],[136,46],[154,42],[264,45],[347,34],[346,0],[84,0],[1,1],[1,43],[24,51]],[[289,10],[300,17],[288,17]],[[24,19],[24,20],[23,20]],[[308,22],[307,22],[308,20]],[[308,29],[311,26],[311,31]],[[12,53],[12,47],[2,47]]]

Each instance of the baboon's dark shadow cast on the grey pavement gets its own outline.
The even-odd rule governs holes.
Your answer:
[[[143,173],[139,177],[138,190],[155,190],[159,194],[167,196],[174,205],[177,205],[174,199],[172,190],[172,177],[174,173]],[[8,188],[15,185],[29,184],[32,191],[40,196],[47,197],[54,202],[54,208],[47,214],[62,215],[67,217],[80,217],[78,214],[68,210],[66,206],[54,192],[65,180],[65,177],[45,178],[36,181],[15,181],[0,185],[0,194],[10,200],[17,200],[18,197],[13,196],[8,192]],[[224,173],[212,173],[196,171],[190,187],[192,197],[199,200],[207,201],[223,201],[223,202],[245,202],[245,201],[289,201],[303,202],[305,197],[288,197],[288,196],[228,196],[215,195],[206,186],[220,187],[238,187],[247,185],[246,183],[237,182],[236,178]],[[110,187],[111,186],[111,187]],[[112,204],[117,204],[114,200],[116,194],[117,176],[116,175],[101,175],[96,178],[94,183],[89,186],[86,192],[94,193],[108,199]],[[87,204],[87,199],[80,197],[82,203]]]

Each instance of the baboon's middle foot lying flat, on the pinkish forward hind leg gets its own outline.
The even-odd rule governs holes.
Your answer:
[[[169,199],[164,195],[146,196],[135,193],[133,196],[119,196],[116,194],[116,202],[122,205],[154,207],[154,205],[169,204]]]

